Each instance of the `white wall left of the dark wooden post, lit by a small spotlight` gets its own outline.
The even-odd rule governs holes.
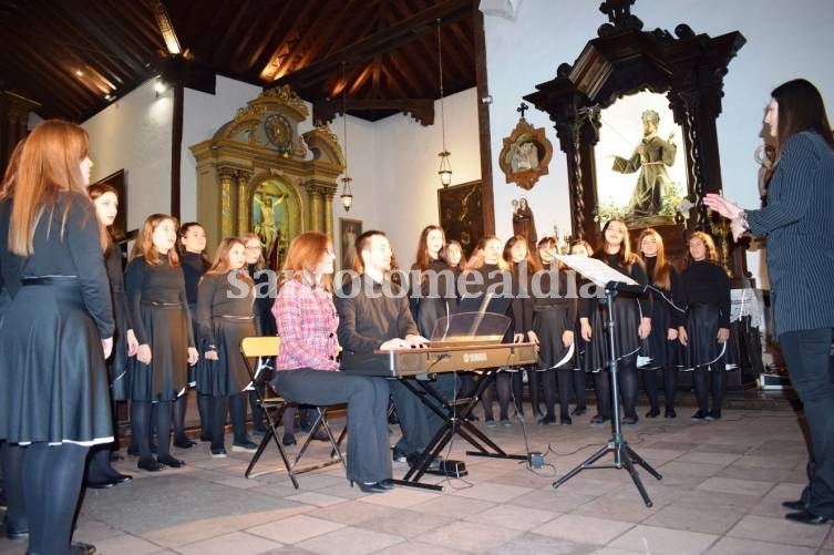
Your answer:
[[[150,80],[82,124],[90,134],[92,181],[125,171],[127,229],[171,210],[172,114],[171,93],[156,97]]]

